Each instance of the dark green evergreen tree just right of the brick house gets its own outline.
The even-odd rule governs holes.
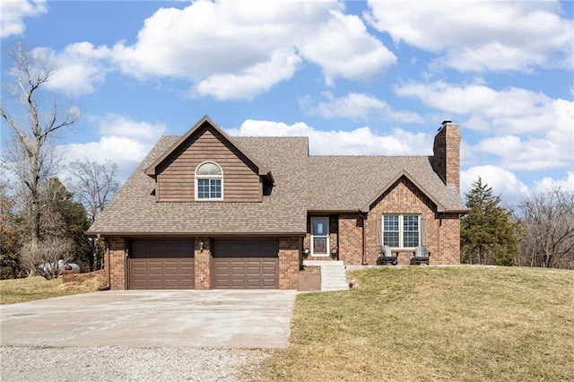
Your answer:
[[[512,213],[500,205],[500,195],[494,195],[492,188],[478,178],[465,196],[471,211],[461,220],[461,262],[514,265],[517,223]]]

